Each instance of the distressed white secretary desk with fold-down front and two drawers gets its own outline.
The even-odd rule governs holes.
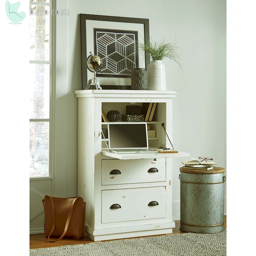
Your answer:
[[[78,196],[86,202],[86,236],[94,241],[172,233],[172,158],[176,154],[115,154],[101,138],[101,108],[126,114],[126,105],[158,102],[149,147],[172,141],[176,91],[77,90]],[[176,148],[175,148],[176,149]],[[179,149],[178,149],[179,150]]]

